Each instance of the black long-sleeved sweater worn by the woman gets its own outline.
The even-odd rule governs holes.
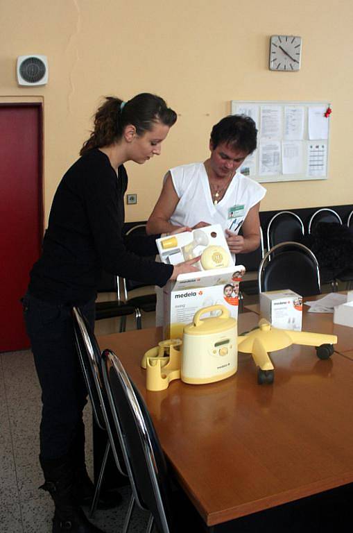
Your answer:
[[[98,149],[83,155],[62,178],[53,199],[42,257],[28,287],[44,301],[80,305],[96,296],[101,271],[166,284],[172,265],[152,262],[126,249],[122,237],[123,195],[128,185]]]

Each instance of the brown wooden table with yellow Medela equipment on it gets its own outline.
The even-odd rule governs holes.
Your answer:
[[[316,314],[316,331],[327,323]],[[239,316],[239,332],[257,324]],[[175,475],[205,523],[234,518],[353,482],[353,365],[320,360],[307,346],[272,354],[273,385],[257,384],[250,355],[227,380],[146,391],[144,352],[160,329],[99,337],[121,358],[146,399]],[[213,530],[212,530],[213,531]]]

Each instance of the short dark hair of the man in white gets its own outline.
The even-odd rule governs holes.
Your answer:
[[[252,153],[257,146],[255,122],[246,115],[228,115],[214,125],[211,140],[214,148],[224,142],[231,149]]]

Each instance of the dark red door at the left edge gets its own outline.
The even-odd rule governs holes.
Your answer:
[[[28,348],[19,299],[42,242],[42,105],[0,104],[0,351]]]

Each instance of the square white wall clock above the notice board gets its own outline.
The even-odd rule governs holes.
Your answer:
[[[300,69],[302,37],[273,35],[270,40],[270,69],[293,72]]]

